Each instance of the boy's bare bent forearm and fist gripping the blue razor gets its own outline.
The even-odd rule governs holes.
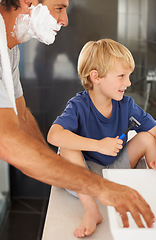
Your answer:
[[[102,154],[117,156],[122,149],[123,141],[116,138],[103,138],[101,140],[81,137],[59,124],[54,124],[49,130],[47,140],[49,143],[63,148],[80,151],[96,151]]]

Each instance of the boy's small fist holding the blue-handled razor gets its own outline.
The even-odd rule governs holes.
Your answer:
[[[123,141],[118,136],[116,138],[106,137],[98,141],[98,152],[117,156],[118,152],[123,148],[122,144]]]

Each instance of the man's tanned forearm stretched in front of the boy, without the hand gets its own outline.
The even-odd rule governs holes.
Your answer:
[[[22,124],[21,127],[21,121],[25,121],[26,118],[22,111],[19,112],[21,113],[20,122],[19,116],[16,117],[13,109],[1,109],[0,111],[0,158],[26,175],[47,184],[75,191],[82,190],[86,194],[89,192],[91,194],[91,187],[88,190],[87,185],[87,178],[91,173],[83,168],[77,169],[76,165],[59,157],[47,144],[40,141],[40,136],[34,137],[33,129],[32,132],[31,128],[27,129],[29,124]],[[94,182],[94,177],[89,181]],[[91,185],[94,186],[94,183]]]

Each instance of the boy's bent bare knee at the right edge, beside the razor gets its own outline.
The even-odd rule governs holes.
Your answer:
[[[144,155],[148,167],[151,168],[150,162],[156,160],[156,139],[148,132],[138,133],[127,143],[127,151],[131,168],[134,168]]]

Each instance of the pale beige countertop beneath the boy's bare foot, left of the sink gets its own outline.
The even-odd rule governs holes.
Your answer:
[[[100,203],[98,205],[103,222],[97,226],[95,233],[83,239],[113,240],[108,223],[107,207]],[[83,207],[80,200],[62,188],[52,187],[42,240],[78,239],[73,235],[73,231],[82,217]]]

